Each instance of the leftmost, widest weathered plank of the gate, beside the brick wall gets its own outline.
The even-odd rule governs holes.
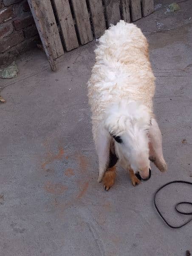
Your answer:
[[[50,0],[28,0],[45,53],[55,70],[54,60],[64,54]]]

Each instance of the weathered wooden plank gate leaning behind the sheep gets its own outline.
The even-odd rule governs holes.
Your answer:
[[[153,0],[28,0],[52,70],[66,51],[99,38],[110,24],[154,11]]]

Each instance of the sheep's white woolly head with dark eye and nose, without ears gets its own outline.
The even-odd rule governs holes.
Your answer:
[[[138,177],[150,177],[149,139],[150,112],[136,102],[121,102],[107,112],[105,127],[115,140],[115,151],[123,165]]]

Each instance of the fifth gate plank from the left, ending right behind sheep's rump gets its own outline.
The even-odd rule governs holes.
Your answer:
[[[121,20],[120,0],[104,0],[105,11],[107,15],[107,26],[116,25]]]

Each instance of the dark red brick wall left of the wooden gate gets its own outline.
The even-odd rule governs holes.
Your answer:
[[[38,40],[27,0],[0,0],[0,66],[36,46]]]

